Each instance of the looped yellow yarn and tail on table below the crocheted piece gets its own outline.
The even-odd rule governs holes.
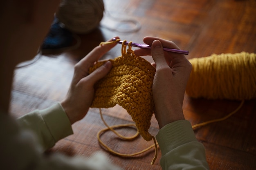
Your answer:
[[[135,152],[135,153],[132,153],[132,154],[123,154],[123,153],[120,153],[120,152],[116,152],[115,150],[112,150],[111,148],[109,148],[106,144],[103,143],[103,141],[101,140],[101,135],[108,131],[108,130],[111,130],[113,133],[115,133],[118,137],[120,137],[121,139],[124,139],[124,140],[133,140],[135,139],[136,137],[138,137],[139,135],[139,130],[137,128],[137,126],[135,124],[119,124],[119,125],[113,125],[113,126],[109,126],[106,121],[104,120],[103,118],[103,114],[101,112],[101,108],[99,108],[99,113],[100,113],[100,116],[101,116],[101,120],[103,121],[103,123],[107,126],[107,128],[104,128],[102,130],[100,130],[98,133],[97,133],[97,139],[99,141],[99,143],[101,144],[101,146],[103,146],[106,150],[108,150],[110,153],[112,154],[115,154],[115,155],[119,155],[121,157],[133,157],[133,156],[136,156],[136,155],[139,155],[141,153],[144,153],[148,150],[150,150],[151,148],[155,147],[155,156],[151,162],[151,165],[153,165],[155,163],[155,160],[157,159],[157,142],[155,140],[155,137],[151,136],[153,141],[154,141],[154,144],[149,146],[148,148],[144,149],[144,150],[141,150],[139,152]],[[136,129],[137,129],[137,132],[135,135],[131,136],[131,137],[125,137],[123,135],[120,135],[117,131],[115,131],[114,129],[115,128],[124,128],[124,127],[129,127],[129,126],[134,126]]]

